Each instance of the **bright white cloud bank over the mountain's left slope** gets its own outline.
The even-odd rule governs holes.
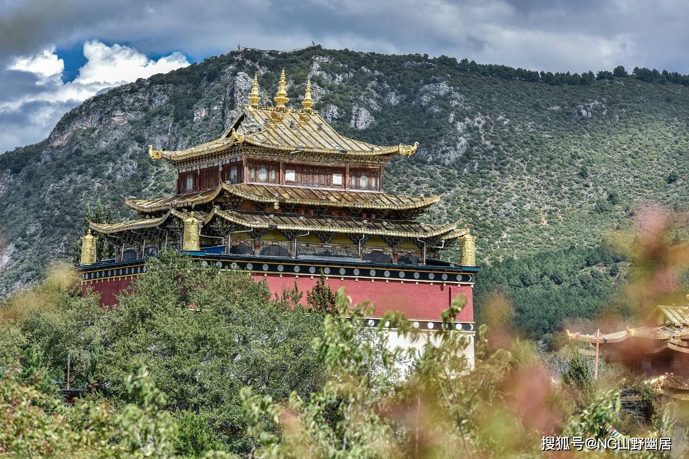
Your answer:
[[[96,40],[85,42],[83,53],[87,61],[74,81],[68,83],[62,81],[65,65],[55,54],[54,45],[10,61],[6,71],[34,74],[35,85],[31,91],[0,100],[0,120],[5,120],[2,124],[16,124],[12,129],[0,129],[0,154],[42,140],[65,111],[99,92],[189,65],[181,52],[154,60],[131,47],[109,46]],[[21,123],[7,121],[12,119]]]

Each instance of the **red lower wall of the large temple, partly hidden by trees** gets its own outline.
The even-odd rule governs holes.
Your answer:
[[[285,288],[294,286],[294,276],[280,277],[278,274],[263,275],[255,273],[254,279],[265,279],[273,295],[280,295]],[[117,303],[116,295],[132,284],[136,276],[115,277],[97,281],[84,281],[81,284],[83,294],[89,287],[101,293],[101,306],[113,306]],[[300,276],[296,278],[298,288],[305,294],[318,281],[318,276]],[[446,310],[457,295],[466,296],[466,306],[457,317],[460,322],[473,322],[473,288],[470,285],[443,285],[441,283],[398,281],[384,279],[352,279],[329,277],[327,283],[333,292],[344,286],[353,303],[370,300],[376,305],[375,317],[380,317],[389,310],[403,312],[409,319],[428,319],[438,321],[442,311]],[[306,294],[302,296],[302,303]]]

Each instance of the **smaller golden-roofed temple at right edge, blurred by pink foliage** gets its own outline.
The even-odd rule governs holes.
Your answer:
[[[661,394],[689,400],[689,306],[657,306],[639,328],[607,334],[567,330],[567,335],[570,340],[589,343],[582,354],[595,355],[598,344],[606,361],[646,376]]]

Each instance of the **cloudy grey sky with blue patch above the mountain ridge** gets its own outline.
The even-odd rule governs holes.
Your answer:
[[[238,43],[689,73],[686,0],[0,0],[0,153],[86,98]]]

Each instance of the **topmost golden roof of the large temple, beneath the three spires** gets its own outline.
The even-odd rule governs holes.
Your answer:
[[[186,160],[210,153],[216,153],[232,145],[256,145],[295,153],[333,153],[349,156],[412,155],[414,145],[381,147],[371,143],[342,136],[328,122],[311,110],[275,107],[251,107],[246,105],[232,126],[223,136],[210,142],[179,151],[151,150],[151,157],[171,161]]]

